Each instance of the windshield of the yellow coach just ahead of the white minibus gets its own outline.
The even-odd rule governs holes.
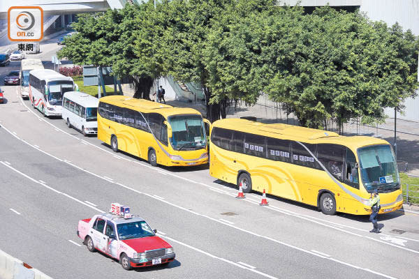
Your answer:
[[[200,115],[179,115],[169,119],[172,127],[170,143],[175,150],[202,149],[207,145],[205,126]]]

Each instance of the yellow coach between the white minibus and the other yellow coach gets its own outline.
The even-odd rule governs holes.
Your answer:
[[[98,105],[98,139],[152,166],[208,163],[205,123],[197,110],[126,96],[106,96]]]

